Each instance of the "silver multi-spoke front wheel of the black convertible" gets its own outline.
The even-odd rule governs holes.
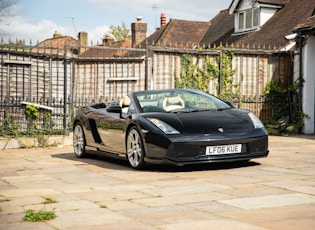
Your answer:
[[[126,146],[126,156],[130,166],[134,169],[142,169],[145,166],[145,152],[142,138],[140,136],[139,130],[136,127],[132,127],[129,130],[126,140]]]

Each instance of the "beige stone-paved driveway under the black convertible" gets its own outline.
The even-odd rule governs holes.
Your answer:
[[[2,150],[0,229],[314,229],[315,136],[269,140],[249,163],[145,171],[71,146]],[[27,209],[57,217],[25,222]]]

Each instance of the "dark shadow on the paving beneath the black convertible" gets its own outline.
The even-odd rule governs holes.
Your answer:
[[[105,169],[111,170],[127,170],[133,171],[129,166],[127,160],[111,158],[101,153],[88,154],[84,158],[77,158],[74,153],[60,153],[53,154],[52,157],[76,161],[76,166],[94,165]],[[192,172],[192,171],[216,171],[227,170],[235,168],[246,168],[260,165],[255,161],[237,161],[237,162],[224,162],[224,163],[206,163],[206,164],[192,164],[184,166],[174,166],[165,164],[148,164],[142,171],[155,171],[155,172]]]

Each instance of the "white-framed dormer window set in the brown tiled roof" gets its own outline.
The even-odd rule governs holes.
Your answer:
[[[259,27],[259,8],[254,8],[238,13],[238,31],[253,30]]]

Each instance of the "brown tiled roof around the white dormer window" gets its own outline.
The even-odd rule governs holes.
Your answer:
[[[264,0],[264,2],[267,1]],[[277,1],[270,0],[268,2]],[[286,1],[282,2],[285,3]],[[287,0],[287,2],[260,30],[240,35],[234,35],[234,15],[229,16],[227,11],[221,11],[216,20],[209,26],[200,45],[215,44],[218,46],[220,43],[236,43],[240,46],[282,48],[288,42],[285,36],[292,33],[299,23],[305,22],[315,9],[314,0]]]

